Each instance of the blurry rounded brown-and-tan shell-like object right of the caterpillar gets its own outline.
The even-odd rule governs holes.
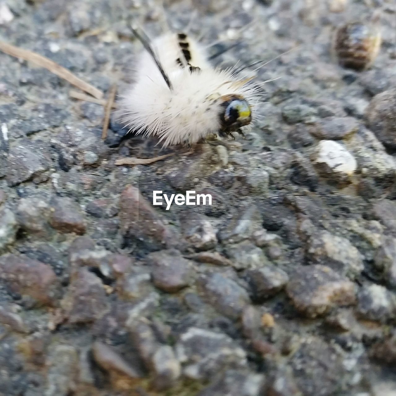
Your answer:
[[[341,66],[367,69],[378,55],[381,40],[381,32],[375,24],[347,23],[335,32],[334,52]]]

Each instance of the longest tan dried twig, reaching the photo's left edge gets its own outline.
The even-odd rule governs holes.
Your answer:
[[[46,58],[45,56],[36,54],[35,52],[24,50],[23,48],[15,47],[11,44],[8,44],[4,41],[0,40],[0,50],[5,52],[8,55],[24,59],[25,61],[29,61],[35,63],[38,66],[44,67],[48,71],[53,74],[56,74],[58,77],[65,79],[70,82],[70,84],[80,88],[81,90],[88,92],[97,99],[103,98],[103,92],[98,90],[88,82],[81,80],[76,77],[69,70],[65,69],[61,65],[58,65],[56,62],[51,61],[51,59]]]

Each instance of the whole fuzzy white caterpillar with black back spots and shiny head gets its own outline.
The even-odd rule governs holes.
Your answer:
[[[204,47],[185,33],[166,33],[150,44],[139,38],[147,51],[119,107],[130,131],[156,136],[163,147],[244,134],[261,100],[251,79],[213,68]]]

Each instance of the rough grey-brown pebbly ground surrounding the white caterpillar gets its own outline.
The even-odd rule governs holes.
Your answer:
[[[396,3],[193,3],[210,54],[236,44],[217,65],[297,49],[258,72],[281,78],[246,139],[191,155],[114,165],[164,151],[114,116],[103,142],[101,105],[0,53],[0,395],[394,396]],[[190,2],[165,10],[188,24]],[[374,15],[373,66],[341,67],[335,28]],[[155,36],[164,10],[0,0],[0,39],[122,93],[131,17]]]

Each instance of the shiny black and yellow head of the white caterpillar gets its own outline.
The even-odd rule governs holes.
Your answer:
[[[224,95],[220,101],[221,132],[236,132],[251,122],[251,107],[241,95]]]

